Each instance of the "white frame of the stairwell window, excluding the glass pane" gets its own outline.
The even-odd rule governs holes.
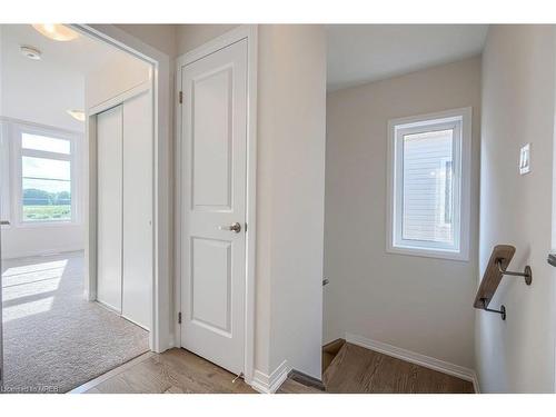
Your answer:
[[[433,129],[430,129],[433,127]],[[403,139],[405,135],[454,129],[454,245],[405,240],[403,217]],[[469,260],[471,108],[419,115],[388,121],[386,251],[429,258]]]

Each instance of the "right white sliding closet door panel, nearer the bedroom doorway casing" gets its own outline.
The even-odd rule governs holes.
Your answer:
[[[152,294],[150,91],[123,102],[122,316],[149,329]]]

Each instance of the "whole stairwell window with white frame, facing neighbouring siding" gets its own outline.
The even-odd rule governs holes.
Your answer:
[[[470,109],[389,122],[390,252],[468,258]]]

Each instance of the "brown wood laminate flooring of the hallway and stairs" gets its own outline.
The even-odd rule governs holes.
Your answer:
[[[252,394],[242,379],[185,349],[145,354],[72,393],[88,394]],[[325,373],[327,391],[473,393],[471,383],[346,344]],[[279,394],[324,394],[288,378]]]

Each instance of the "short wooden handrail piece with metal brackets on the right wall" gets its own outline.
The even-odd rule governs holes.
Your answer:
[[[506,307],[502,306],[499,310],[488,308],[488,305],[496,294],[496,289],[500,285],[502,277],[505,275],[524,277],[525,284],[527,285],[530,285],[533,281],[533,274],[529,266],[525,267],[524,272],[510,272],[506,270],[515,252],[516,248],[510,245],[497,245],[494,247],[473,307],[486,311],[498,312],[502,315],[503,320],[506,319]]]

